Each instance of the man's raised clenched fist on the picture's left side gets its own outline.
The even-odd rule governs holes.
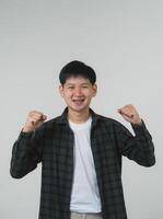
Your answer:
[[[46,120],[46,115],[38,111],[31,111],[28,113],[25,126],[23,128],[23,132],[30,132],[34,131],[36,128],[38,128],[45,120]]]

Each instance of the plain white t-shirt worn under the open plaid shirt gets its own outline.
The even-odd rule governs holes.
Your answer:
[[[101,212],[101,198],[90,143],[91,123],[91,117],[83,124],[69,120],[74,132],[74,175],[70,210],[77,212]]]

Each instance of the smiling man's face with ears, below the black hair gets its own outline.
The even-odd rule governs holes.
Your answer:
[[[59,85],[60,95],[65,99],[68,107],[75,112],[82,112],[90,106],[96,90],[96,84],[92,85],[89,79],[80,76],[70,77],[63,85]]]

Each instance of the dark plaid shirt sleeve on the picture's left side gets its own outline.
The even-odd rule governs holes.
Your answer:
[[[23,132],[21,130],[18,140],[12,148],[10,163],[10,174],[12,177],[20,178],[36,169],[42,161],[44,145],[43,128],[35,131]]]

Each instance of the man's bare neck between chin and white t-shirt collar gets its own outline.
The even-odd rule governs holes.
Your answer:
[[[86,108],[82,112],[77,112],[71,108],[68,108],[68,119],[75,124],[85,123],[90,117],[90,110]]]

